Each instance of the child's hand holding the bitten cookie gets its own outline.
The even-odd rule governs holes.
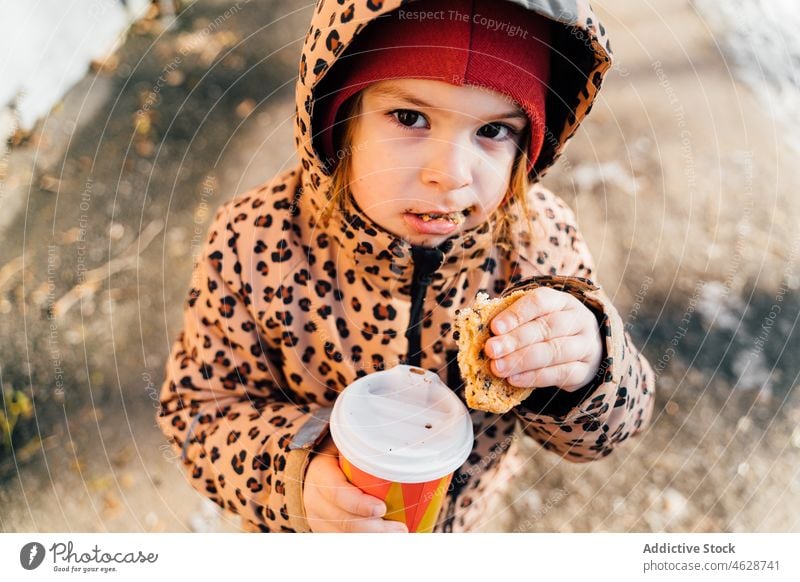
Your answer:
[[[573,295],[537,287],[492,319],[486,342],[492,372],[512,386],[557,386],[572,392],[588,384],[603,357],[594,314]]]

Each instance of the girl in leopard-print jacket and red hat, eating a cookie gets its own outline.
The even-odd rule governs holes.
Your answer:
[[[652,369],[573,212],[537,184],[591,109],[603,35],[583,1],[318,2],[301,164],[217,212],[161,392],[190,482],[245,529],[405,531],[339,470],[330,409],[399,363],[463,399],[452,320],[479,291],[538,286],[487,343],[495,374],[535,389],[506,414],[471,411],[434,531],[480,526],[516,426],[583,462],[649,423]]]

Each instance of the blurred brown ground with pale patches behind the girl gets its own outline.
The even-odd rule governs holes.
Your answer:
[[[652,428],[515,442],[485,531],[800,530],[800,5],[593,2],[616,66],[544,179],[657,375]],[[0,531],[239,531],[155,424],[218,205],[294,166],[314,10],[0,2]]]

